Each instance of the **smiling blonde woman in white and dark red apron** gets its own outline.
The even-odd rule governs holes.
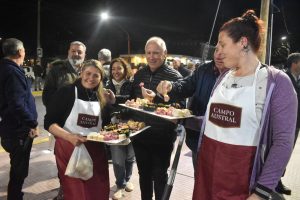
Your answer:
[[[109,121],[106,102],[114,103],[110,90],[102,86],[99,61],[84,62],[80,79],[57,91],[45,116],[45,128],[56,137],[54,153],[65,200],[108,200],[108,162],[102,143],[87,142]],[[93,177],[83,181],[65,175],[75,146],[84,143],[93,160]]]

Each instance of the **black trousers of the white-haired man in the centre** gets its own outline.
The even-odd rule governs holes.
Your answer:
[[[167,170],[174,143],[144,144],[133,142],[136,163],[139,170],[142,200],[152,200],[153,185],[155,199],[162,198],[168,180]]]

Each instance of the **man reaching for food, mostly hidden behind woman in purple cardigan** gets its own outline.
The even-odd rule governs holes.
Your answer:
[[[225,70],[220,53],[216,49],[214,52],[214,61],[205,63],[198,67],[192,76],[176,82],[163,81],[157,91],[161,94],[168,93],[170,97],[181,96],[183,98],[191,97],[188,108],[196,118],[189,118],[185,121],[186,144],[192,151],[194,168],[196,167],[197,147],[202,117],[205,114],[207,103],[211,91],[221,72]],[[166,91],[162,91],[166,89]]]

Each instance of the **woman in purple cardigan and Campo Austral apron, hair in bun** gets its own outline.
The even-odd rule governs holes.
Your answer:
[[[283,72],[259,62],[261,32],[252,10],[220,29],[217,48],[230,70],[208,103],[193,200],[269,199],[288,163],[297,98]]]

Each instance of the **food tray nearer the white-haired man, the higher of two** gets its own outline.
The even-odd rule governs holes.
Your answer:
[[[185,119],[194,117],[192,112],[188,109],[179,109],[170,104],[151,103],[146,99],[137,98],[136,100],[127,100],[125,104],[119,104],[120,106],[148,113],[160,118],[168,120]]]

